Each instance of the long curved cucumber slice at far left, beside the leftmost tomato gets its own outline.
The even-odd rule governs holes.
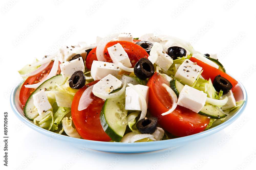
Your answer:
[[[28,120],[33,121],[39,114],[35,111],[33,95],[40,91],[40,89],[45,89],[45,91],[51,91],[56,89],[56,84],[63,85],[68,78],[63,78],[61,74],[51,77],[42,83],[37,89],[30,95],[25,106],[24,106],[24,114]]]

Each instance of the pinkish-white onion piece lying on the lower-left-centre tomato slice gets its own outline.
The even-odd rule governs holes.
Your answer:
[[[93,86],[94,85],[91,85],[86,90],[84,90],[78,103],[78,111],[86,109],[91,104],[93,100],[93,98],[91,97]]]

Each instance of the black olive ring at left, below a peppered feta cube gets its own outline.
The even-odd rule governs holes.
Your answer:
[[[69,79],[69,86],[73,89],[80,89],[85,85],[85,76],[82,71],[76,71]]]

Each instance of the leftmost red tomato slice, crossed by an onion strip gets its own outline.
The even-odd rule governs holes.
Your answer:
[[[41,73],[38,73],[36,75],[30,76],[25,80],[25,82],[23,83],[23,85],[20,89],[20,93],[19,93],[19,100],[20,100],[20,103],[22,104],[22,107],[25,106],[29,96],[35,91],[35,88],[27,88],[27,87],[25,87],[25,85],[36,84],[36,83],[44,80],[50,73],[53,63],[54,63],[54,61],[51,61],[49,63],[49,65],[45,68],[44,71],[42,71]],[[60,65],[60,62],[59,62],[59,65]],[[60,71],[61,70],[60,70],[60,66],[59,66],[57,74],[60,74]]]

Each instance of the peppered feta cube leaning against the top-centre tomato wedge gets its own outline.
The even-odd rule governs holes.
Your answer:
[[[117,43],[108,48],[109,56],[113,63],[121,62],[125,67],[132,67],[128,54],[125,52],[121,44]]]

